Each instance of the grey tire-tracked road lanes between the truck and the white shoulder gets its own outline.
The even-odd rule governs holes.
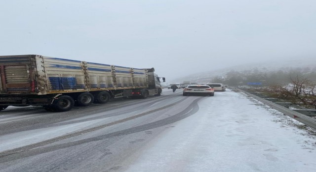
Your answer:
[[[118,172],[123,162],[173,123],[198,111],[207,97],[164,89],[147,99],[51,113],[41,107],[0,112],[1,172]]]

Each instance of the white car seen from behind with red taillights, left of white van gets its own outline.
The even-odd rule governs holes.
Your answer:
[[[207,85],[189,85],[183,89],[183,96],[187,95],[214,96],[214,88]]]

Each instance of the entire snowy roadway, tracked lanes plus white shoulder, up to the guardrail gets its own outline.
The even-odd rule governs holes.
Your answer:
[[[87,115],[4,131],[2,171],[316,171],[311,130],[240,92],[184,97],[180,89],[164,89],[160,97],[74,111]],[[6,121],[28,121],[25,115],[1,113],[0,127]],[[8,152],[14,148],[16,152]]]

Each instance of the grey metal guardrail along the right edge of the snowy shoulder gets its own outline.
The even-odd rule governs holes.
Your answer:
[[[235,90],[238,90],[240,92],[243,92],[243,93],[245,93],[245,94],[247,94],[247,95],[249,95],[249,96],[251,96],[251,97],[253,97],[253,98],[257,99],[257,100],[259,100],[260,102],[270,106],[271,108],[276,109],[277,111],[283,113],[284,115],[288,115],[288,116],[290,116],[290,117],[302,122],[303,124],[308,125],[308,126],[314,128],[314,129],[316,129],[316,118],[313,118],[313,117],[310,117],[310,116],[303,115],[301,113],[295,112],[294,110],[290,110],[290,109],[288,109],[286,107],[283,107],[281,105],[276,104],[275,102],[271,102],[269,100],[261,98],[261,97],[259,97],[257,95],[249,93],[247,91],[241,90],[239,88],[232,87],[232,89],[235,89]]]

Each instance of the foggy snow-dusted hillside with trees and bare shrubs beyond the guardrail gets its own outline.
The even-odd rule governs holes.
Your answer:
[[[246,87],[264,92],[273,98],[286,100],[295,105],[316,109],[316,68],[296,68],[278,71],[244,70],[229,71],[225,76],[216,76],[213,83]],[[249,85],[259,83],[259,85]]]

